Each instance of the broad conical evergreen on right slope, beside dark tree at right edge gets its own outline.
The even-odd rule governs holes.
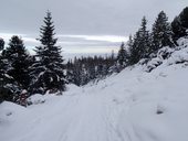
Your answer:
[[[171,28],[164,11],[159,12],[152,31],[150,53],[156,53],[163,46],[173,46]]]

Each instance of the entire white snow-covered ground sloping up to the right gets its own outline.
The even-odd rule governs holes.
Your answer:
[[[0,105],[0,141],[188,141],[188,50],[27,108]],[[181,59],[180,59],[181,61]]]

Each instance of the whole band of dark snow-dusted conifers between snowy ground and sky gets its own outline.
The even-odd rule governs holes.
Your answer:
[[[38,41],[41,45],[35,46],[35,55],[29,54],[18,35],[13,35],[7,46],[0,39],[0,101],[25,106],[25,98],[33,94],[62,95],[66,84],[83,86],[96,83],[127,66],[146,64],[159,53],[167,58],[177,40],[188,35],[188,7],[171,22],[160,11],[150,30],[146,17],[143,17],[140,28],[129,35],[128,42],[122,43],[118,53],[105,57],[75,57],[65,63],[62,48],[56,45],[54,30],[51,12],[48,11],[40,28]]]

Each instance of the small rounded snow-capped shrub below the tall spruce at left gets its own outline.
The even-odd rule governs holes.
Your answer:
[[[41,94],[32,95],[27,99],[28,105],[39,105],[45,101],[44,97]]]

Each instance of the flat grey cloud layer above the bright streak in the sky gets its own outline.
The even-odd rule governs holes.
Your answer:
[[[61,34],[128,35],[143,15],[152,21],[160,10],[173,19],[186,0],[1,0],[0,32],[38,33],[50,9]]]

